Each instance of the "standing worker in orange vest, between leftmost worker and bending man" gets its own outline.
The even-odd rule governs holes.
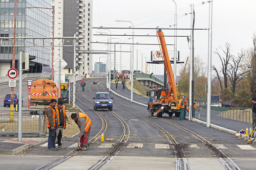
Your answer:
[[[62,100],[58,101],[55,109],[58,115],[58,122],[59,122],[56,130],[56,143],[58,144],[58,149],[66,149],[66,147],[63,147],[61,143],[63,129],[66,129],[66,115],[65,115],[65,109],[63,108]]]

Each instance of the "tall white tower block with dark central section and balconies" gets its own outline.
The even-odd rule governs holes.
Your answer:
[[[55,0],[52,6],[55,8],[54,37],[83,37],[76,41],[76,74],[84,75],[92,72],[91,54],[83,53],[91,50],[92,40],[92,0]],[[54,48],[54,60],[62,57],[68,65],[63,69],[66,74],[73,72],[74,47],[73,40],[56,39]]]

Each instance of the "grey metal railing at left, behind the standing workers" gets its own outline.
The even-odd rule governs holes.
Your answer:
[[[18,112],[0,110],[0,135],[15,135],[18,133]],[[42,136],[46,132],[46,116],[42,110],[22,111],[22,133]]]

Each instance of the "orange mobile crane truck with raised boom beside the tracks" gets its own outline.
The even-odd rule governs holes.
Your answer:
[[[183,94],[179,94],[176,88],[176,82],[173,75],[172,65],[167,52],[167,47],[164,39],[163,32],[157,31],[158,40],[160,42],[160,50],[163,56],[164,68],[167,75],[168,88],[155,88],[147,92],[148,96],[148,112],[150,116],[162,117],[163,113],[167,113],[170,117],[175,114],[176,117],[180,116],[180,109],[178,107],[179,100]]]

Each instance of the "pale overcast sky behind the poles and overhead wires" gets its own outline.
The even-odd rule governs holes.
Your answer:
[[[195,6],[195,28],[209,28],[209,3],[202,4],[203,1],[193,0],[176,0],[177,3],[177,15],[178,15],[178,28],[190,28],[191,16],[190,4]],[[247,50],[252,47],[252,35],[255,33],[256,22],[256,1],[237,1],[237,0],[225,0],[225,1],[213,1],[213,21],[212,21],[212,64],[217,68],[220,66],[220,59],[213,52],[219,46],[224,47],[226,42],[231,44],[231,53],[237,55],[241,49]],[[187,15],[186,15],[187,14]],[[93,27],[121,27],[128,28],[131,26],[130,22],[116,22],[115,20],[128,20],[134,25],[134,28],[174,28],[174,16],[175,16],[175,3],[172,0],[169,1],[152,1],[152,0],[94,0],[93,1]],[[172,27],[169,27],[172,26]],[[97,29],[93,29],[93,34]],[[112,34],[118,35],[132,35],[132,30],[111,30]],[[162,30],[164,35],[174,35],[173,30]],[[102,30],[102,32],[108,32]],[[135,30],[135,35],[156,35],[156,30]],[[177,31],[177,35],[190,36],[190,31]],[[128,36],[112,36],[112,38],[120,38],[122,42],[132,42],[131,37]],[[130,39],[129,39],[130,38]],[[107,42],[108,36],[93,36],[94,42]],[[173,37],[165,38],[167,44],[173,44]],[[208,31],[200,30],[195,31],[195,56],[200,56],[207,65],[208,57]],[[119,39],[112,39],[112,42],[120,42]],[[136,37],[135,43],[158,43],[157,37]],[[150,60],[151,51],[159,50],[158,45],[135,45],[138,50],[143,52],[143,71],[145,71],[145,56]],[[135,47],[135,50],[137,48]],[[114,45],[112,49],[114,48]],[[105,44],[93,44],[94,50],[106,50]],[[173,51],[174,47],[167,46],[168,51]],[[116,51],[120,50],[120,45],[116,45]],[[122,51],[129,51],[130,45],[122,45]],[[177,50],[180,51],[180,60],[186,61],[186,58],[190,56],[188,42],[186,37],[177,38]],[[139,53],[138,70],[141,70],[141,52]],[[99,62],[99,57],[104,55],[93,55],[93,63]],[[114,56],[114,55],[113,55]],[[116,62],[119,64],[120,53],[116,53]],[[136,63],[136,51],[134,54]],[[130,69],[130,54],[122,53],[122,69]],[[100,58],[101,62],[105,62],[106,58]],[[158,66],[159,71],[163,74],[163,65]],[[117,66],[119,70],[119,65]],[[150,65],[150,72],[152,70]],[[161,68],[160,68],[161,67]],[[93,64],[94,69],[94,64]],[[134,66],[136,69],[136,64]],[[177,74],[178,74],[177,70]]]

